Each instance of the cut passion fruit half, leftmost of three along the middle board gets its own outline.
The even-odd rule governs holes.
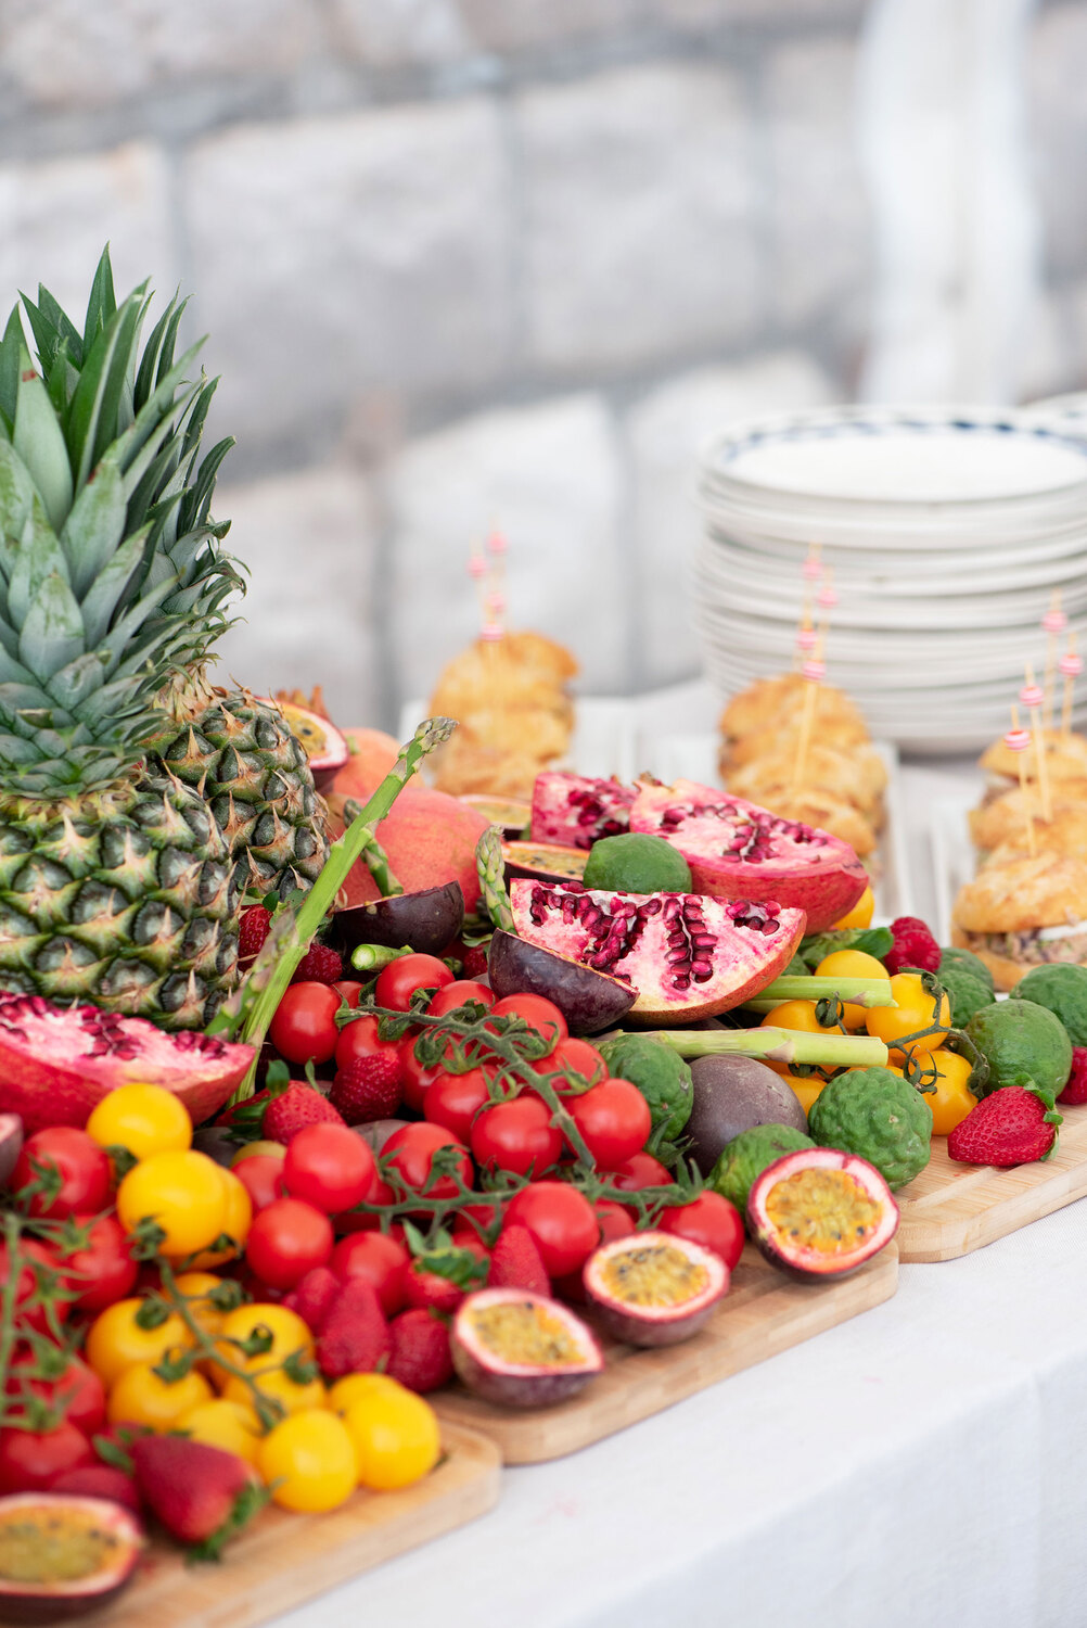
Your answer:
[[[485,1402],[545,1408],[604,1368],[596,1335],[558,1301],[529,1289],[478,1289],[452,1324],[452,1364]]]

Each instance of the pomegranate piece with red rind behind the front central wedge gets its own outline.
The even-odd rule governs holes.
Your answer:
[[[809,933],[833,926],[869,884],[840,837],[693,780],[643,786],[630,829],[670,842],[690,864],[698,891],[718,899],[773,899],[804,910]]]

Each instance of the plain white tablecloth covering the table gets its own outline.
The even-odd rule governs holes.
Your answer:
[[[916,907],[924,809],[905,772]],[[954,783],[954,781],[952,781]],[[1087,1206],[555,1464],[282,1628],[1084,1628]]]

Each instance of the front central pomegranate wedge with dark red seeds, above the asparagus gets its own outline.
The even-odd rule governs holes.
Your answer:
[[[703,894],[622,894],[509,884],[521,938],[635,990],[626,1022],[696,1022],[731,1011],[788,967],[804,912]]]

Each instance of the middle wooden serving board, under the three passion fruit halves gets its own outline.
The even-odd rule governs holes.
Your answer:
[[[693,1340],[656,1351],[605,1340],[604,1372],[581,1395],[555,1408],[524,1413],[500,1408],[461,1387],[438,1392],[431,1402],[443,1421],[488,1434],[506,1464],[544,1464],[613,1436],[719,1379],[880,1306],[897,1288],[893,1244],[841,1283],[786,1278],[747,1244],[732,1288]]]

